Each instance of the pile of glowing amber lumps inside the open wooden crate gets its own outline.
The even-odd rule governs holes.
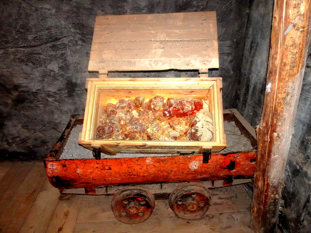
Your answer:
[[[95,139],[209,141],[211,113],[199,99],[155,96],[144,103],[143,96],[108,103],[102,112]]]

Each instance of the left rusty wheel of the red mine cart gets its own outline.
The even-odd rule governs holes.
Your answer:
[[[120,190],[111,201],[114,217],[126,224],[146,221],[155,208],[156,200],[148,190],[131,187]]]

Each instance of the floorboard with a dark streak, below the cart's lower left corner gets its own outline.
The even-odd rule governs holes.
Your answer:
[[[72,233],[80,210],[82,195],[69,201],[58,201],[46,233]]]

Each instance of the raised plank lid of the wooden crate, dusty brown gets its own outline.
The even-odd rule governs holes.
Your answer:
[[[218,67],[214,11],[96,17],[89,71]]]

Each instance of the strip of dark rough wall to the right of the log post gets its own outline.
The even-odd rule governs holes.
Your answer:
[[[311,46],[295,119],[295,133],[285,170],[279,228],[311,232]]]

